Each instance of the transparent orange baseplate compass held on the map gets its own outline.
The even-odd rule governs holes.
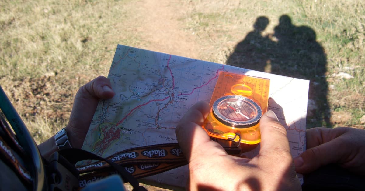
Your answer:
[[[268,108],[269,86],[269,79],[219,73],[203,128],[228,154],[251,150],[261,142],[259,122]]]

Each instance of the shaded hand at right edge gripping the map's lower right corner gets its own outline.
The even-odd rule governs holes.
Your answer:
[[[335,163],[365,175],[365,130],[338,127],[307,130],[307,150],[294,159],[296,171],[307,174]]]

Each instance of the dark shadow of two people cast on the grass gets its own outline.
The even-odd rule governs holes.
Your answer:
[[[315,31],[295,26],[288,15],[282,15],[274,33],[263,36],[268,24],[267,17],[258,17],[254,30],[236,45],[226,64],[310,80],[307,127],[332,127],[325,78],[327,56]]]

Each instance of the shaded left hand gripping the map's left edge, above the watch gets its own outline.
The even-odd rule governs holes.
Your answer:
[[[73,148],[81,148],[100,99],[114,96],[109,79],[99,76],[78,89],[66,132]]]

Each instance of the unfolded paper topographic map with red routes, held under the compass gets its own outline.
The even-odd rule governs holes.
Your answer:
[[[176,143],[176,124],[194,103],[210,101],[219,71],[270,79],[268,109],[287,129],[293,157],[305,150],[308,80],[124,45],[117,46],[108,75],[115,96],[100,101],[82,149],[107,157],[132,147]],[[184,187],[187,178],[183,166],[146,180]]]

